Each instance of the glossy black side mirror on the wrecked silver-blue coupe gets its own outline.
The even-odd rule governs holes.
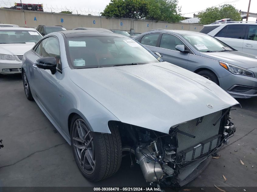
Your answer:
[[[40,69],[49,69],[54,74],[57,62],[54,57],[42,57],[36,60],[36,66]]]

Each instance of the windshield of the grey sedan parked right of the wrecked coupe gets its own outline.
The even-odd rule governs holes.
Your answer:
[[[218,39],[205,34],[182,35],[193,47],[200,52],[234,51],[233,48]]]

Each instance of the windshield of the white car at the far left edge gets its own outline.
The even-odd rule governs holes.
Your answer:
[[[36,43],[41,38],[37,31],[0,29],[0,43]]]

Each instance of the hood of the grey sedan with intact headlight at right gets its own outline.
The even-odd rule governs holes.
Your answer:
[[[257,67],[257,57],[240,51],[228,52],[200,52],[200,55],[210,59],[215,59],[230,64],[243,67],[245,69]]]

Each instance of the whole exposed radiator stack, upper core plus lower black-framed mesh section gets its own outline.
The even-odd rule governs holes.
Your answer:
[[[195,138],[192,138],[177,133],[177,156],[181,156],[182,165],[206,154],[219,145],[221,138],[221,135],[218,134],[220,122],[216,126],[213,124],[221,117],[221,113],[222,111],[218,111],[203,116],[201,123],[199,123],[201,118],[197,118],[178,126],[179,130],[195,136]]]

